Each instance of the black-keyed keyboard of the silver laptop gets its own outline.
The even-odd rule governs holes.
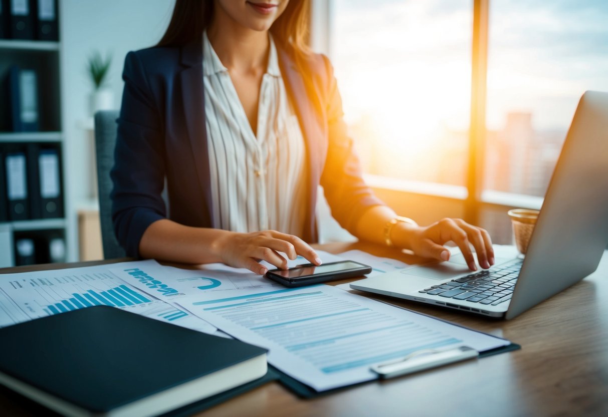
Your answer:
[[[514,260],[418,292],[496,306],[511,300],[520,269],[522,269],[522,260]]]

